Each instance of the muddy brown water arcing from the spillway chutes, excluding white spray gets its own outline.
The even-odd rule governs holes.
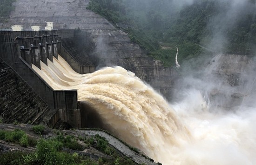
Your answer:
[[[134,73],[116,66],[81,75],[58,59],[33,69],[56,90],[77,89],[78,100],[94,109],[109,131],[151,158],[162,160],[166,146],[189,141],[189,132],[166,100]]]

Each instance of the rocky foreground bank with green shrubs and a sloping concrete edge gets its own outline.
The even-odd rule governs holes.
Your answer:
[[[1,165],[157,165],[139,150],[99,130],[54,130],[0,124]]]

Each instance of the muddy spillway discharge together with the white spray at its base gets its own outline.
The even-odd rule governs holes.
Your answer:
[[[173,106],[122,67],[75,73],[60,56],[33,69],[54,89],[77,89],[78,100],[108,131],[163,165],[252,165],[256,162],[255,109],[211,113],[201,93],[190,90]],[[173,108],[172,108],[173,107]]]

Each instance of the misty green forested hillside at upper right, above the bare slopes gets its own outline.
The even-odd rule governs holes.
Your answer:
[[[128,32],[131,40],[175,65],[202,53],[199,45],[222,53],[254,55],[255,0],[91,0],[89,9]]]

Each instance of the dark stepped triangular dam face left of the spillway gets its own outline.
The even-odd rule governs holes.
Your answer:
[[[0,115],[3,122],[47,124],[48,105],[0,58]]]

